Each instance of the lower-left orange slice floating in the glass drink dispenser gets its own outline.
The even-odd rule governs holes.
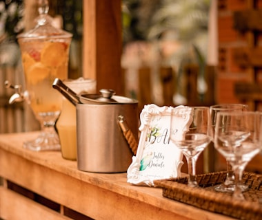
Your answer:
[[[35,63],[30,67],[28,72],[26,72],[26,80],[28,80],[28,83],[35,85],[47,78],[49,73],[50,69],[48,67],[41,63]]]

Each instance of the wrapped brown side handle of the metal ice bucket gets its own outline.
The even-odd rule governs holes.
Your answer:
[[[118,116],[119,125],[121,130],[123,131],[123,135],[125,136],[125,140],[127,140],[129,147],[131,148],[134,155],[137,154],[137,139],[134,137],[134,134],[130,130],[128,123],[125,121],[123,115]]]

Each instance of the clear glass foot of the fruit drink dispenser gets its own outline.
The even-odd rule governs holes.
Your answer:
[[[59,151],[61,149],[57,133],[42,132],[36,140],[23,143],[23,147],[31,151]]]

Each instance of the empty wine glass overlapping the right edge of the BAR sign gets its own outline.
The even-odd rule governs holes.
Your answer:
[[[196,181],[196,160],[212,139],[209,107],[172,109],[170,140],[181,149],[188,162],[188,186],[199,186]]]

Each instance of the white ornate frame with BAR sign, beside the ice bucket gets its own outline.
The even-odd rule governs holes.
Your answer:
[[[181,175],[183,153],[170,141],[172,109],[148,104],[141,111],[141,136],[127,171],[128,183],[153,186],[156,179]]]

